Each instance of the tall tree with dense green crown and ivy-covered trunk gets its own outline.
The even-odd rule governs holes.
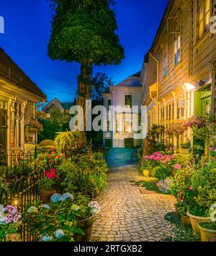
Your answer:
[[[53,60],[81,64],[78,75],[78,105],[86,108],[91,95],[94,65],[120,64],[124,49],[115,34],[114,0],[50,0],[55,15],[48,56]],[[84,121],[85,123],[85,121]]]

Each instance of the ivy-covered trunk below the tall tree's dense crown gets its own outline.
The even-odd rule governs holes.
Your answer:
[[[78,117],[81,122],[84,122],[84,136],[86,136],[86,100],[89,100],[91,95],[91,76],[92,64],[91,61],[84,61],[81,63],[81,73],[78,75],[78,90],[77,90],[77,104],[83,109],[83,118]],[[81,120],[81,118],[83,120]]]

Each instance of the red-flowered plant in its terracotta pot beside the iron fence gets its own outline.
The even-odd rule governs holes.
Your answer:
[[[51,169],[50,171],[45,171],[44,178],[37,181],[37,186],[40,190],[40,201],[46,203],[56,193],[55,184],[57,178],[57,170]]]

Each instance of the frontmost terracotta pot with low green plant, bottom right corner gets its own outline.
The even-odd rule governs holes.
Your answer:
[[[202,242],[212,242],[212,239],[216,237],[216,222],[201,222],[198,226]]]

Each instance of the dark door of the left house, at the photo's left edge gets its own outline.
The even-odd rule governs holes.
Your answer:
[[[7,138],[6,138],[6,128],[7,128],[7,113],[6,110],[0,109],[0,151],[6,150],[7,148]]]

